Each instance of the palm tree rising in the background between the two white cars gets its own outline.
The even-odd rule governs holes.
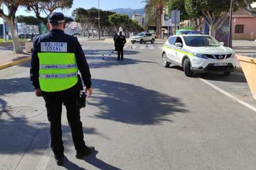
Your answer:
[[[159,38],[162,32],[163,9],[166,8],[168,0],[145,0],[145,13],[148,22],[156,24],[156,36]],[[151,23],[152,24],[152,23]]]

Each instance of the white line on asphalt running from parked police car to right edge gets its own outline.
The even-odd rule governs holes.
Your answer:
[[[215,90],[218,90],[219,92],[221,92],[222,94],[224,94],[225,96],[228,96],[230,97],[231,99],[233,99],[234,101],[237,101],[238,103],[240,104],[243,104],[243,106],[246,106],[246,108],[249,108],[250,110],[252,111],[255,111],[256,112],[256,108],[253,107],[252,105],[244,102],[244,101],[241,101],[240,99],[238,99],[237,97],[233,96],[232,94],[229,94],[228,92],[226,92],[225,90],[222,90],[220,89],[219,87],[216,87],[216,85],[210,83],[209,81],[207,80],[204,80],[202,78],[198,78],[199,80],[203,81],[205,84],[209,85],[210,87],[212,87],[213,89]]]

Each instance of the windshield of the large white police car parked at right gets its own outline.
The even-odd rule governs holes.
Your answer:
[[[211,36],[184,36],[183,38],[187,46],[221,46]]]

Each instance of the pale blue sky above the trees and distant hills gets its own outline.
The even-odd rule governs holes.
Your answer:
[[[100,0],[100,9],[102,10],[113,10],[115,8],[144,8],[145,3],[141,3],[143,0]],[[98,8],[98,0],[74,0],[73,6],[70,10],[64,10],[65,15],[71,15],[72,11],[76,8]],[[17,15],[35,15],[34,13],[26,13],[24,8],[19,8]],[[60,11],[60,10],[59,10]]]

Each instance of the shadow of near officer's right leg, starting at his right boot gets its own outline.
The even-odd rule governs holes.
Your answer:
[[[98,169],[122,170],[118,167],[111,166],[100,159],[97,159],[97,157],[96,157],[97,153],[99,153],[99,152],[97,150],[95,150],[95,152],[93,152],[92,155],[85,157],[83,160],[85,160],[85,162],[87,162],[88,164],[91,164],[91,165],[97,167]]]

